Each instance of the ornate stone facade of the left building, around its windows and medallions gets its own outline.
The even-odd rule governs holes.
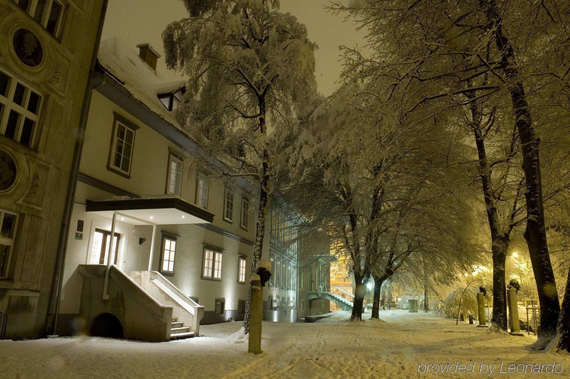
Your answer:
[[[103,0],[67,0],[58,38],[9,0],[0,2],[0,70],[43,96],[31,146],[0,135],[0,150],[15,161],[15,184],[0,193],[0,209],[19,214],[0,311],[6,338],[43,335],[75,142],[95,50]],[[23,64],[12,46],[20,28],[43,49],[39,66]]]

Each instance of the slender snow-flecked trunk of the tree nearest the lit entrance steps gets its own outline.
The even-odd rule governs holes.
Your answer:
[[[255,228],[255,243],[253,249],[253,256],[251,257],[251,275],[256,274],[257,262],[261,258],[263,250],[263,237],[265,236],[265,216],[267,213],[267,199],[269,195],[269,178],[270,178],[270,165],[269,165],[269,146],[267,144],[266,136],[266,124],[265,124],[265,114],[266,114],[266,104],[264,100],[259,101],[259,131],[266,138],[263,145],[263,164],[262,164],[262,177],[260,181],[259,188],[259,210],[257,215],[257,225]],[[247,301],[245,315],[243,315],[243,328],[245,334],[249,333],[249,321],[250,321],[250,309],[251,309],[251,280],[249,285],[249,291],[247,292]]]

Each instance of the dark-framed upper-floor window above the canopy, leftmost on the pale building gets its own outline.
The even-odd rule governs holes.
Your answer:
[[[138,128],[123,116],[115,113],[107,169],[126,178],[131,177],[135,131]]]

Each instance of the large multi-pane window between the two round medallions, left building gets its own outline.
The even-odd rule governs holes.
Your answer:
[[[42,99],[30,85],[0,70],[0,134],[33,147]]]

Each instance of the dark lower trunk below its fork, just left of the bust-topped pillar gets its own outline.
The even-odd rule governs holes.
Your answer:
[[[505,279],[505,260],[507,258],[508,236],[494,238],[492,242],[493,259],[493,315],[495,323],[503,331],[507,330],[507,283]]]

